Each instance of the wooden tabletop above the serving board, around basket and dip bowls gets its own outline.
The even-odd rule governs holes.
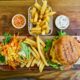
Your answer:
[[[38,0],[41,3],[41,0]],[[58,15],[66,15],[70,19],[70,27],[66,30],[68,34],[80,35],[80,0],[48,0],[48,4],[53,8]],[[34,4],[34,0],[0,0],[0,35],[4,32],[19,33],[20,35],[27,35],[28,24],[23,29],[17,30],[11,24],[12,17],[21,13],[25,15],[27,21],[27,10]],[[56,34],[55,25],[53,26],[53,34]]]

